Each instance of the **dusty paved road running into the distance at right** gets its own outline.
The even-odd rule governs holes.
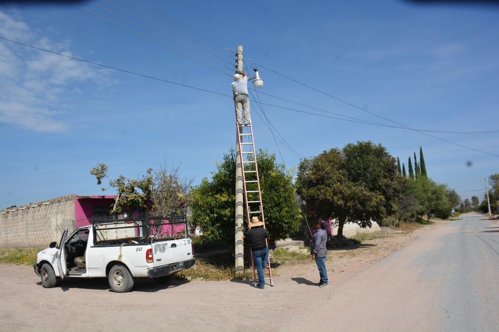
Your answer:
[[[437,225],[338,287],[282,331],[499,331],[499,221]]]

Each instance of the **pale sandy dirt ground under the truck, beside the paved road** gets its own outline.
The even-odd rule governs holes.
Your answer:
[[[330,283],[324,289],[316,285],[319,276],[312,260],[279,267],[274,286],[264,290],[243,281],[157,285],[140,280],[125,294],[111,292],[105,279],[65,280],[44,289],[31,267],[2,264],[0,331],[302,330],[290,322],[312,319],[310,309],[344,291],[346,281],[442,223],[368,240],[355,249],[330,250]]]

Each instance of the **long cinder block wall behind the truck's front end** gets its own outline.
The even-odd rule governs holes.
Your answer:
[[[75,229],[74,199],[75,195],[67,195],[0,211],[6,212],[0,214],[0,247],[47,247],[59,242],[64,229]]]

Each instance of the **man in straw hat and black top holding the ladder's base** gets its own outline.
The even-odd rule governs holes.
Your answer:
[[[251,251],[253,252],[254,265],[258,272],[258,284],[256,288],[265,288],[265,277],[263,275],[263,266],[268,264],[268,246],[267,246],[267,231],[262,227],[263,222],[257,217],[253,217],[248,229],[248,240],[250,241]],[[267,265],[268,266],[268,265]]]

